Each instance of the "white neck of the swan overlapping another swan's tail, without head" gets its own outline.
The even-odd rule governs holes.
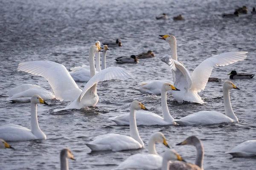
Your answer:
[[[137,128],[137,123],[136,123],[136,116],[135,116],[135,109],[131,107],[130,110],[130,136],[137,140],[143,147],[144,143],[142,139],[140,138],[140,134]]]

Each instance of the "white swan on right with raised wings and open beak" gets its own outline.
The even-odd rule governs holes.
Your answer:
[[[214,66],[225,66],[241,61],[247,57],[246,54],[248,53],[247,51],[238,51],[215,55],[201,62],[190,76],[189,71],[184,65],[177,62],[176,38],[173,35],[160,35],[160,37],[169,42],[171,46],[172,57],[166,57],[169,58],[168,64],[172,65],[171,68],[175,72],[175,74],[173,74],[173,77],[175,77],[174,86],[181,91],[181,93],[172,91],[172,95],[177,102],[187,101],[203,104],[204,101],[198,95],[198,92],[204,90]],[[168,59],[161,60],[168,61]],[[173,65],[175,65],[175,67]],[[177,69],[174,70],[175,68]]]

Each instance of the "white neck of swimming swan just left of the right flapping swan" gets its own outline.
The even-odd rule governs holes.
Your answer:
[[[164,87],[161,89],[161,105],[162,105],[162,114],[163,114],[163,119],[166,122],[173,122],[174,119],[169,113],[168,105],[167,105],[167,91],[165,90]]]

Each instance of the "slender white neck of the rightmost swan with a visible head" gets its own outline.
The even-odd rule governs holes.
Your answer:
[[[223,87],[223,98],[224,98],[224,108],[225,108],[225,114],[230,117],[231,119],[235,120],[238,122],[238,119],[233,112],[231,102],[230,102],[230,94],[229,90]]]

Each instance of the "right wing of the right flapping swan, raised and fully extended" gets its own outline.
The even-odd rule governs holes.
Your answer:
[[[247,57],[247,53],[247,51],[227,52],[205,59],[192,73],[193,85],[191,90],[197,92],[204,90],[215,65],[225,66],[241,61]]]

